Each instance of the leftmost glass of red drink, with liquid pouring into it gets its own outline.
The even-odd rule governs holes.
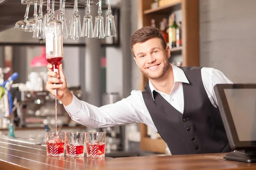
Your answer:
[[[45,132],[47,156],[64,156],[64,132]]]

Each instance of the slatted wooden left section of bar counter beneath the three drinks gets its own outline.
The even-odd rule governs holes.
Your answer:
[[[41,145],[0,139],[0,170],[83,170],[111,159],[47,157]]]

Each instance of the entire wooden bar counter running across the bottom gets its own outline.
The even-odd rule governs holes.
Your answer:
[[[87,159],[47,157],[46,147],[0,139],[0,170],[251,170],[256,163],[223,159],[225,153]]]

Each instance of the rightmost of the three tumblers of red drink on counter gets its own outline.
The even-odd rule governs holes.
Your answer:
[[[105,132],[85,133],[87,158],[105,157]]]

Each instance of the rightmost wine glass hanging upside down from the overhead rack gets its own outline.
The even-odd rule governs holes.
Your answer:
[[[105,37],[116,37],[116,26],[114,16],[111,14],[110,0],[108,0],[108,15],[105,23]]]

